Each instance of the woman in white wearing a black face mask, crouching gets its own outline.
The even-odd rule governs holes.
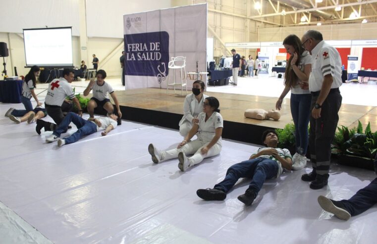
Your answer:
[[[208,96],[204,95],[205,84],[201,80],[196,80],[192,84],[192,93],[188,94],[183,104],[183,117],[179,122],[179,133],[185,137],[192,128],[194,123],[198,122],[196,118],[203,111],[203,101]]]

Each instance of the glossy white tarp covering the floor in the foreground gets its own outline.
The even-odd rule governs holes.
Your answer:
[[[45,142],[51,132],[38,135],[35,123],[15,124],[3,117],[10,106],[0,104],[0,201],[15,216],[0,217],[0,229],[20,229],[20,234],[11,239],[14,233],[1,233],[0,243],[365,244],[377,240],[376,206],[344,222],[317,203],[321,194],[348,199],[376,177],[373,171],[333,164],[328,186],[311,190],[300,179],[311,170],[308,164],[309,168],[268,180],[250,207],[237,200],[249,179],[237,183],[224,201],[203,201],[196,190],[213,187],[228,167],[248,159],[256,145],[223,140],[220,155],[180,172],[178,160],[154,164],[147,150],[151,142],[160,149],[176,146],[182,138],[175,130],[123,121],[107,136],[95,133],[58,148],[56,142]],[[20,219],[16,214],[48,240],[31,239],[34,228],[12,228],[13,220]]]

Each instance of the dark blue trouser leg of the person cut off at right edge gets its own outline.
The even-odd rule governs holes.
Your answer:
[[[360,189],[348,200],[341,200],[351,216],[367,211],[377,203],[377,178]]]

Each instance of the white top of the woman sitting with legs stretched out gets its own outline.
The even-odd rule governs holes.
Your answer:
[[[206,113],[202,112],[198,115],[199,120],[199,131],[198,139],[203,140],[204,142],[210,142],[216,132],[216,128],[223,127],[222,116],[220,113],[214,112],[206,122]],[[218,139],[217,144],[221,145],[221,137]]]

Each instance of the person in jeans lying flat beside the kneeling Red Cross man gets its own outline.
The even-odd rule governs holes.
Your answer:
[[[67,131],[68,125],[70,122],[73,122],[77,131],[71,134],[68,137],[60,138],[61,133]],[[99,118],[89,118],[89,120],[84,120],[75,113],[68,113],[62,122],[54,130],[53,134],[50,137],[46,138],[46,142],[53,142],[57,140],[57,145],[62,146],[65,144],[70,144],[78,141],[84,135],[90,135],[97,131],[104,130],[101,134],[107,135],[108,132],[117,125],[120,124],[120,118],[114,114],[109,115],[109,117],[99,117]]]

